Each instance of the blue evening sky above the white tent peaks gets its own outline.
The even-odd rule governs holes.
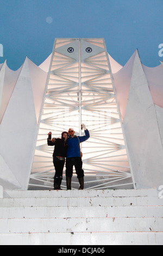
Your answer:
[[[40,65],[55,38],[104,38],[121,65],[136,48],[146,66],[163,61],[163,0],[0,0],[0,25],[0,63],[13,70],[26,56]]]

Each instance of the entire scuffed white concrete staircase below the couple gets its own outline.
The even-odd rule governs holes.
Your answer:
[[[156,190],[5,191],[0,245],[163,245]]]

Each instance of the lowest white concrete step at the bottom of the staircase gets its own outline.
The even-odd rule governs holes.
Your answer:
[[[163,245],[162,237],[162,232],[4,233],[0,245]]]

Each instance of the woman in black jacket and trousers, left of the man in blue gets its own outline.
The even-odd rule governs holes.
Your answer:
[[[54,153],[53,153],[53,164],[55,168],[55,175],[54,175],[54,190],[60,190],[60,185],[62,182],[62,175],[63,169],[65,165],[65,157],[67,151],[66,140],[68,138],[67,132],[62,132],[61,139],[60,138],[53,138],[52,139],[52,132],[48,133],[47,144],[49,146],[54,146]]]

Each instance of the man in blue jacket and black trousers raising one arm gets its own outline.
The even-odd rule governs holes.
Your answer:
[[[76,136],[74,135],[75,131],[73,129],[68,130],[68,149],[66,157],[66,185],[67,190],[71,190],[71,178],[73,175],[73,166],[76,169],[77,178],[79,180],[79,190],[84,188],[84,170],[82,169],[83,162],[80,152],[80,143],[86,141],[90,137],[89,131],[86,129],[86,126],[83,124],[85,136]]]

